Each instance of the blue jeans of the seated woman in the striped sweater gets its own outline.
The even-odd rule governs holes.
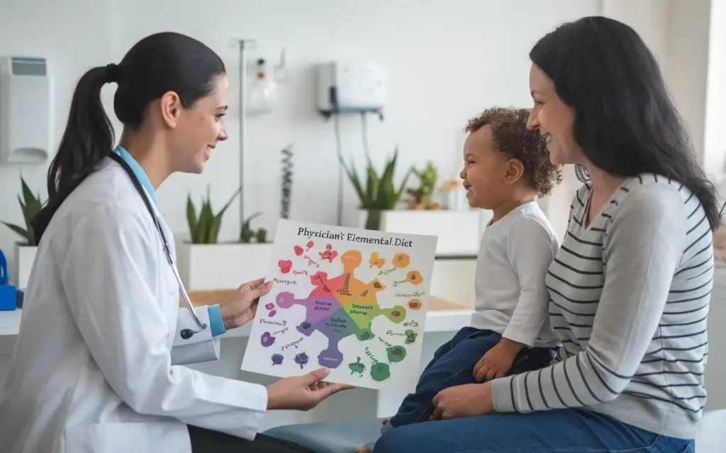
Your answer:
[[[643,431],[587,410],[414,423],[386,432],[375,453],[692,453],[693,440]]]

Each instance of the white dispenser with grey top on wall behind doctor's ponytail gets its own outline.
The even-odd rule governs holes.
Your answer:
[[[44,58],[0,57],[0,163],[49,157],[52,78]]]

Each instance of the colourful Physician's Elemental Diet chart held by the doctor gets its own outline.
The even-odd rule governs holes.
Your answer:
[[[436,236],[280,220],[242,370],[411,392]]]

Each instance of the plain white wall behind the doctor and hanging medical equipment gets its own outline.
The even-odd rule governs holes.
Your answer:
[[[54,65],[57,142],[78,77],[91,66],[118,62],[139,38],[176,30],[217,51],[232,83],[230,139],[217,147],[203,175],[174,175],[159,191],[171,228],[185,233],[187,192],[199,199],[211,183],[213,203],[220,207],[237,186],[238,53],[229,46],[230,39],[257,41],[258,51],[250,52],[250,61],[264,56],[277,62],[280,47],[286,46],[293,81],[279,87],[282,99],[274,115],[248,121],[245,158],[245,211],[264,211],[261,225],[273,228],[279,212],[278,153],[290,142],[295,146],[291,217],[335,222],[333,125],[314,109],[315,63],[352,58],[383,65],[390,96],[385,122],[369,121],[375,158],[382,159],[399,144],[401,168],[433,159],[441,177],[447,178],[458,173],[457,138],[468,117],[494,104],[531,105],[527,54],[537,38],[560,22],[596,13],[596,0],[219,0],[204,7],[192,0],[3,0],[0,54],[40,55]],[[92,19],[81,19],[81,14]],[[112,94],[109,87],[109,108]],[[359,120],[346,119],[342,128],[344,153],[360,156]],[[325,163],[329,167],[324,168]],[[0,166],[1,220],[22,218],[15,199],[19,171],[45,196],[46,166]],[[349,189],[346,204],[354,204]],[[221,237],[236,238],[238,228],[234,206]],[[0,249],[12,250],[15,240],[0,225]]]

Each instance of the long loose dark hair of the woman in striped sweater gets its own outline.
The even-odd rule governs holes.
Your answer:
[[[584,17],[545,35],[529,58],[574,109],[574,139],[590,162],[613,175],[655,173],[682,183],[718,228],[716,188],[696,163],[658,62],[635,30]]]

